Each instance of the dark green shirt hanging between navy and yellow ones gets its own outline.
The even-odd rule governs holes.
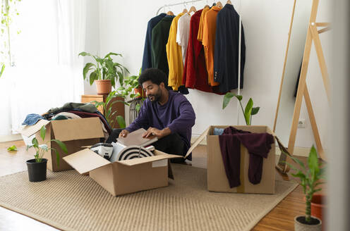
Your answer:
[[[166,45],[169,37],[169,30],[175,16],[166,15],[152,30],[152,68],[162,70],[169,75]],[[165,83],[168,86],[168,80]]]

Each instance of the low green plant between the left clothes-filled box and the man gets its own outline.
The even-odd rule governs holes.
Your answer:
[[[113,92],[110,92],[108,94],[108,96],[104,102],[103,101],[101,101],[101,102],[92,101],[92,103],[95,104],[96,108],[98,108],[99,106],[102,106],[103,111],[104,111],[104,117],[106,118],[107,122],[109,123],[109,125],[111,127],[114,127],[114,125],[116,123],[118,123],[120,128],[125,128],[126,123],[125,123],[123,116],[115,116],[117,111],[112,111],[112,106],[114,104],[116,104],[117,102],[122,102],[123,104],[126,104],[126,105],[128,105],[128,103],[126,103],[125,101],[122,101],[122,100],[113,100],[117,96],[119,96],[119,95],[116,94],[116,91],[113,91]]]

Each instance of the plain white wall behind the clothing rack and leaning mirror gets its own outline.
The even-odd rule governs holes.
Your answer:
[[[156,15],[160,6],[177,2],[179,1],[99,1],[100,53],[114,51],[123,54],[123,58],[118,61],[126,65],[132,75],[137,74],[142,64],[147,21]],[[195,3],[195,6],[199,9],[205,4],[207,1]],[[239,1],[236,0],[232,1],[232,4],[242,15],[246,35],[246,68],[244,89],[241,91],[243,103],[246,104],[249,97],[252,97],[254,105],[260,106],[258,115],[253,117],[253,125],[272,127],[294,1],[246,0],[241,1],[240,7]],[[177,14],[183,10],[183,6],[174,6],[170,10]],[[169,11],[169,8],[166,11]],[[318,68],[318,65],[315,65],[317,63],[313,63],[316,60],[314,53],[315,51],[311,56],[310,73],[314,73]],[[318,77],[317,73],[312,75]],[[311,98],[316,101],[321,99],[321,103],[325,103],[321,96],[324,92],[322,89],[318,90],[319,85],[315,87],[309,86]],[[199,135],[208,125],[236,125],[236,101],[232,101],[223,111],[223,96],[190,89],[190,94],[186,97],[197,116],[193,135]],[[320,123],[326,120],[322,111],[315,108],[315,113]],[[308,118],[304,115],[301,117]],[[239,123],[244,124],[241,111]],[[322,137],[323,134],[325,132],[321,133]],[[296,146],[309,147],[312,143],[310,126],[299,129]]]

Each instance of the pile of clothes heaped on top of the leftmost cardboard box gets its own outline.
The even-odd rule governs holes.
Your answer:
[[[29,114],[22,125],[35,125],[39,120],[72,120],[90,117],[99,118],[104,133],[104,139],[107,139],[111,134],[111,126],[102,113],[97,110],[95,105],[90,103],[66,103],[61,108],[51,108],[47,113],[42,114],[42,116],[38,114]]]

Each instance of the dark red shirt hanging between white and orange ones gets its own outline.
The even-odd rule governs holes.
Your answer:
[[[203,45],[197,40],[200,15],[203,10],[196,11],[190,21],[190,36],[186,53],[185,67],[183,68],[183,85],[203,92],[222,94],[219,87],[211,87],[207,82],[207,68]]]

